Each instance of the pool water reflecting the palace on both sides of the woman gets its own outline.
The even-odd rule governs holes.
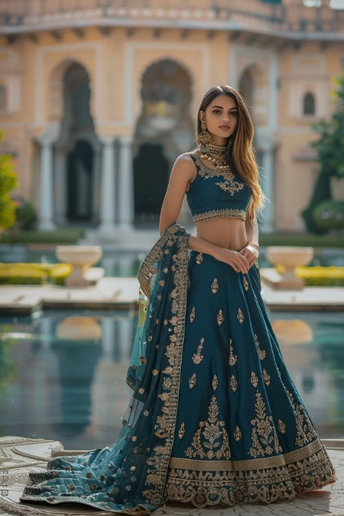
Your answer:
[[[272,312],[270,321],[319,435],[343,438],[342,315]],[[127,311],[1,317],[0,435],[85,450],[116,442],[132,394],[125,374],[137,323]]]

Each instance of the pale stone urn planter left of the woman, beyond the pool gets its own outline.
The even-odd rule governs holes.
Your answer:
[[[85,278],[85,272],[103,256],[101,246],[56,246],[56,256],[72,264],[72,274],[65,280],[67,287],[87,287],[92,281]]]

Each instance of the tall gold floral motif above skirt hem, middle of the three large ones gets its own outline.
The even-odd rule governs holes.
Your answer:
[[[257,455],[271,455],[283,451],[279,445],[275,424],[273,424],[272,416],[266,415],[266,406],[261,399],[259,391],[256,392],[257,402],[255,403],[256,417],[251,419],[252,428],[252,446],[248,452],[251,457],[256,458]],[[272,433],[272,435],[270,435]],[[270,446],[272,444],[273,448]]]

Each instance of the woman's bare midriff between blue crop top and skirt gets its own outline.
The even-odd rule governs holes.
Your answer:
[[[196,236],[234,251],[239,251],[248,244],[245,222],[237,217],[204,220],[196,224]]]

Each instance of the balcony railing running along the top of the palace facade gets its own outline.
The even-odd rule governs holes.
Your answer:
[[[87,25],[180,27],[343,37],[344,10],[259,0],[0,0],[2,33]],[[284,34],[284,35],[286,35]],[[340,36],[341,35],[341,36]]]

